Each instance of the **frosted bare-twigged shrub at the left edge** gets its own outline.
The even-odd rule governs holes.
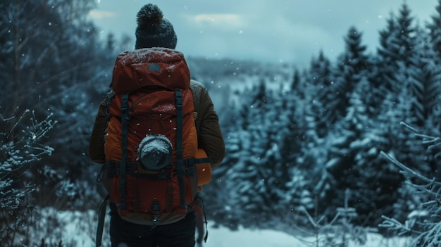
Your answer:
[[[56,121],[51,115],[39,121],[35,113],[25,110],[18,117],[0,114],[0,245],[6,246],[26,234],[25,227],[35,220],[36,208],[32,204],[32,191],[37,184],[29,182],[32,165],[54,151],[42,144],[47,132]],[[25,126],[25,127],[23,127]]]

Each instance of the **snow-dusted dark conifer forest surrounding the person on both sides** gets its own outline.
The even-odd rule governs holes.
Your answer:
[[[0,1],[0,246],[63,239],[66,232],[49,231],[57,222],[48,210],[92,215],[83,223],[94,238],[106,194],[89,135],[115,58],[133,42],[99,39],[87,18],[95,7]],[[317,51],[302,69],[186,57],[209,89],[226,146],[201,191],[208,220],[298,235],[332,224],[437,246],[441,1],[433,13],[418,23],[402,4],[373,52],[349,23],[335,61]]]

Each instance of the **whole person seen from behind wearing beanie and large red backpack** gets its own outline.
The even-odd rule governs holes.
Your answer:
[[[215,167],[225,154],[218,115],[158,6],[140,9],[135,35],[135,50],[116,58],[89,143],[110,195],[111,246],[193,247],[194,200],[206,181],[198,165]]]

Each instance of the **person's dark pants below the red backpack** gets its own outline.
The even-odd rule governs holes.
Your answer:
[[[194,247],[196,216],[187,213],[185,218],[154,228],[142,224],[133,224],[120,218],[116,205],[110,203],[110,236],[112,247]]]

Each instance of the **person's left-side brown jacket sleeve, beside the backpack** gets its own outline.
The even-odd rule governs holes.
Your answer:
[[[106,155],[104,153],[104,134],[106,128],[106,100],[104,100],[99,104],[99,110],[89,141],[89,158],[96,163],[106,163]]]

